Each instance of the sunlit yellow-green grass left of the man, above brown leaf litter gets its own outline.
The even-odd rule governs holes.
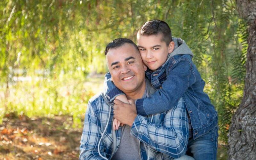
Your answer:
[[[87,102],[102,90],[103,77],[60,75],[39,80],[34,77],[29,82],[9,85],[8,94],[6,88],[0,86],[0,121],[5,114],[12,112],[28,117],[69,115],[73,116],[73,127],[82,127],[81,117]]]

